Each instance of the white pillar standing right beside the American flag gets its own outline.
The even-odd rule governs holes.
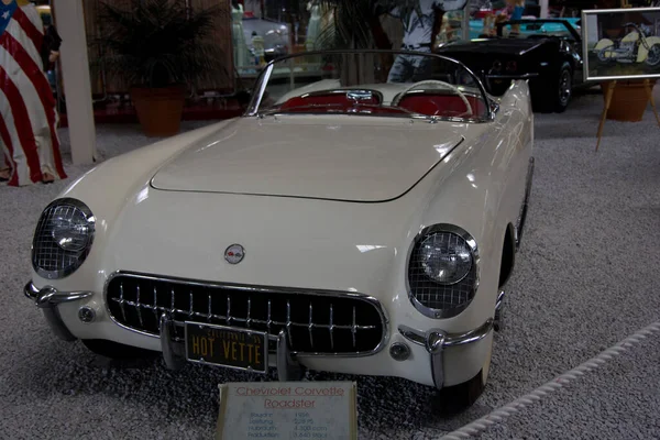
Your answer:
[[[82,2],[53,0],[55,26],[62,36],[59,62],[74,165],[90,164],[96,156],[96,128],[91,105],[89,61]]]

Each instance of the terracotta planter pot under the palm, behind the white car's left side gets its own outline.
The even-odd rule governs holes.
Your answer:
[[[183,86],[153,89],[133,87],[131,99],[144,134],[165,138],[179,132],[185,102]]]

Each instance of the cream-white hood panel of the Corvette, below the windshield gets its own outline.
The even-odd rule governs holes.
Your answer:
[[[400,197],[464,139],[408,118],[240,118],[152,178],[162,190],[375,202]]]

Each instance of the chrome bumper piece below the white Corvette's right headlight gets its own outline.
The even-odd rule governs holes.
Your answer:
[[[447,333],[437,329],[425,333],[403,324],[399,326],[398,330],[404,338],[424,346],[430,354],[433,384],[438,389],[441,389],[444,386],[444,350],[451,346],[466,345],[481,341],[493,330],[493,318],[488,318],[479,328],[464,333]]]

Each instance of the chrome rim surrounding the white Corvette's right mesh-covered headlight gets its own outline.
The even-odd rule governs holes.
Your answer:
[[[454,234],[461,237],[463,240],[465,240],[465,242],[472,250],[472,257],[473,257],[472,264],[474,265],[474,270],[475,270],[473,289],[476,295],[476,290],[477,290],[479,284],[480,284],[480,261],[481,261],[476,241],[464,229],[459,228],[454,224],[448,224],[448,223],[437,223],[437,224],[432,224],[430,227],[424,228],[421,231],[419,231],[419,233],[415,237],[415,239],[410,243],[410,246],[408,248],[408,256],[406,258],[406,292],[408,293],[408,299],[410,299],[410,302],[413,304],[415,309],[417,309],[417,311],[419,311],[421,315],[426,316],[427,318],[433,318],[433,319],[453,318],[453,317],[460,315],[463,310],[465,310],[468,308],[468,306],[470,306],[470,304],[472,304],[472,300],[470,300],[468,304],[465,304],[463,306],[454,307],[452,309],[431,309],[431,308],[422,305],[421,302],[419,302],[419,300],[413,294],[413,289],[410,288],[410,279],[408,276],[408,270],[410,267],[410,257],[413,256],[413,250],[415,249],[415,245],[417,243],[419,243],[421,240],[424,240],[427,235],[435,233],[435,232],[450,232],[450,233],[454,233]],[[460,280],[457,283],[460,283]],[[457,283],[454,283],[454,284],[457,284]],[[474,299],[474,297],[473,297],[473,299]]]

